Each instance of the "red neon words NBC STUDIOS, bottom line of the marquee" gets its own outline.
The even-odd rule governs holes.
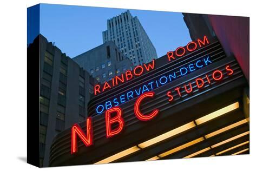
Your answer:
[[[191,94],[195,90],[203,89],[206,84],[211,86],[214,82],[220,82],[224,75],[232,76],[234,73],[233,69],[230,67],[230,65],[226,65],[225,70],[214,70],[211,74],[206,74],[204,77],[197,77],[195,78],[194,82],[196,86],[192,86],[192,82],[188,82],[184,84],[182,87],[176,87],[173,90],[168,90],[166,92],[166,96],[168,97],[168,101],[170,103],[173,103],[174,100],[174,94],[178,94],[179,98],[182,98],[181,95],[182,89],[185,89],[186,94]],[[187,87],[189,85],[189,88]],[[143,102],[146,100],[149,100],[150,98],[153,99],[155,96],[154,91],[148,91],[146,93],[141,94],[135,101],[134,104],[134,114],[142,122],[147,122],[152,119],[154,119],[157,115],[161,114],[161,111],[159,109],[153,109],[149,114],[143,114],[140,110],[140,106]],[[115,114],[113,116],[113,114]],[[74,126],[71,128],[71,154],[75,154],[78,152],[77,148],[77,136],[82,140],[84,145],[86,147],[93,145],[93,122],[92,117],[89,117],[87,119],[87,127],[86,132],[82,130],[82,128],[78,124],[74,124]],[[122,109],[118,106],[110,108],[105,111],[105,124],[106,124],[106,137],[111,138],[119,133],[124,128],[125,122],[122,117]],[[114,129],[113,124],[117,124],[117,127]]]

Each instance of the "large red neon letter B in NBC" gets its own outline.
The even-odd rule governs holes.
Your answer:
[[[116,113],[116,116],[111,117],[111,114]],[[106,135],[107,138],[119,134],[124,126],[124,121],[122,118],[122,110],[120,107],[113,107],[111,109],[106,110],[105,113],[106,120]],[[118,126],[115,129],[112,129],[112,124],[117,123]]]

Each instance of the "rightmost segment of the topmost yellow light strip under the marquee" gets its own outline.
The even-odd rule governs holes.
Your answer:
[[[208,114],[208,115],[205,115],[203,117],[200,117],[199,119],[195,120],[195,122],[196,122],[196,124],[199,125],[199,124],[205,123],[205,122],[207,122],[209,120],[212,120],[215,117],[224,115],[224,114],[228,113],[229,111],[232,111],[232,110],[237,109],[237,108],[239,108],[239,102],[235,102],[233,104],[230,104],[229,106],[226,106],[224,108],[216,110],[216,111],[214,111],[211,114]]]

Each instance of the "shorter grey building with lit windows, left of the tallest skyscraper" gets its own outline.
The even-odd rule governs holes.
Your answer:
[[[133,69],[133,63],[109,41],[73,58],[80,67],[90,73],[100,83],[111,80],[116,75]]]

